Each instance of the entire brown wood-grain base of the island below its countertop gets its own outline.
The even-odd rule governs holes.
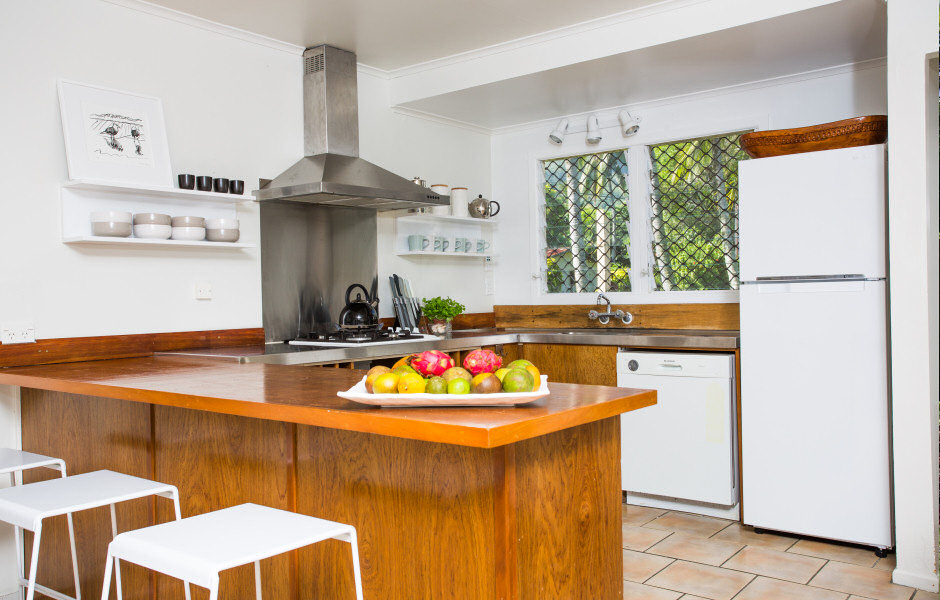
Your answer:
[[[257,502],[352,524],[366,597],[391,600],[619,598],[619,422],[473,448],[23,390],[24,449],[63,457],[72,473],[110,468],[174,484],[184,517]],[[79,562],[94,595],[110,525],[107,509],[86,513],[76,515]],[[168,519],[169,504],[125,503],[119,526],[146,526],[155,514]],[[41,569],[63,591],[66,540],[64,520],[47,531]],[[128,598],[181,597],[178,581],[131,565],[124,574]],[[265,597],[351,599],[349,546],[327,541],[266,560],[262,582]],[[224,573],[221,589],[251,598],[251,568]]]

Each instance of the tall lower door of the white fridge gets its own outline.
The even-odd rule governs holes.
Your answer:
[[[885,283],[741,289],[743,521],[892,546]]]

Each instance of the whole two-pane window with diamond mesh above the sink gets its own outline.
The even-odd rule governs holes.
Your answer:
[[[650,291],[738,289],[737,164],[747,158],[739,140],[735,133],[543,161],[547,292],[633,291],[640,278],[631,263],[648,265]],[[632,196],[631,163],[648,176],[634,181],[649,181]],[[631,213],[646,228],[632,257]]]

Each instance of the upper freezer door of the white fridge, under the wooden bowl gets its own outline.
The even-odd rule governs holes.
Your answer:
[[[741,280],[885,276],[884,146],[741,161]]]

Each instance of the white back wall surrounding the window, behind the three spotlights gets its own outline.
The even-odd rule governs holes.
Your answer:
[[[857,68],[831,69],[784,80],[755,83],[724,91],[687,98],[628,107],[642,117],[640,131],[624,138],[618,131],[615,112],[600,113],[603,140],[597,145],[584,141],[586,115],[569,117],[571,129],[559,148],[548,141],[555,121],[545,121],[512,129],[493,137],[493,199],[502,205],[495,246],[495,304],[566,304],[583,302],[569,294],[539,292],[534,279],[541,262],[535,250],[541,232],[538,216],[538,161],[624,148],[627,145],[696,137],[746,128],[779,129],[836,121],[851,116],[886,112],[885,68],[883,63]],[[605,123],[609,125],[604,127]],[[569,129],[570,132],[570,129]],[[632,178],[633,185],[642,181]],[[631,215],[636,225],[639,216]],[[634,233],[634,237],[636,237]],[[634,264],[634,269],[641,265]],[[676,302],[676,293],[609,294],[614,302]],[[683,293],[684,300],[736,301],[736,293]]]

